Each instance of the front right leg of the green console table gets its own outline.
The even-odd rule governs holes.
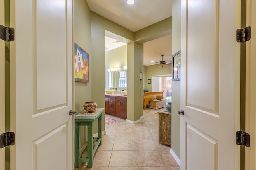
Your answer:
[[[90,123],[87,126],[87,134],[88,134],[88,145],[87,145],[87,154],[88,154],[88,165],[87,168],[92,168],[93,165],[93,124]]]

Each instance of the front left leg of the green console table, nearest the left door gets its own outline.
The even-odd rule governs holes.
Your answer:
[[[81,127],[78,123],[75,123],[75,168],[80,167],[80,162],[78,159],[81,156],[81,139],[80,139]]]

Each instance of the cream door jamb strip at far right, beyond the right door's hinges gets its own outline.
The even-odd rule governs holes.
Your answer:
[[[256,1],[246,2],[246,27],[252,27],[252,37],[246,42],[246,126],[250,134],[250,147],[245,147],[245,170],[256,169]]]

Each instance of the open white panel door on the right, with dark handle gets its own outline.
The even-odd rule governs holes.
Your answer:
[[[236,1],[182,0],[181,11],[180,169],[234,170]]]

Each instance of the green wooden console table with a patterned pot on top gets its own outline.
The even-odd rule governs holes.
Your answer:
[[[84,115],[84,112],[75,115],[75,168],[80,167],[80,162],[88,162],[87,167],[92,168],[93,156],[102,143],[102,112],[105,108],[97,108],[93,113]],[[98,137],[93,137],[93,124],[98,120]],[[87,126],[87,143],[81,147],[81,126]],[[93,147],[94,143],[96,145]],[[82,152],[87,147],[85,154]]]

